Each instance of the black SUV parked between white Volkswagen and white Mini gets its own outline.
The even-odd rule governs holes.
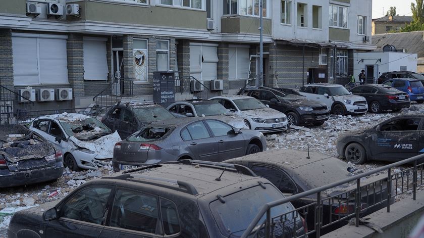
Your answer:
[[[327,105],[306,99],[297,92],[284,93],[274,88],[259,87],[240,89],[238,95],[253,97],[286,114],[289,125],[322,125],[330,117]]]

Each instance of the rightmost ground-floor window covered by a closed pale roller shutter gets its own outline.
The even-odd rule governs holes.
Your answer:
[[[247,79],[249,66],[250,56],[248,47],[230,46],[228,48],[229,79]]]

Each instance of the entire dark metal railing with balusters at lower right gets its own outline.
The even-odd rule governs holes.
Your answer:
[[[354,224],[358,226],[360,217],[368,213],[384,207],[387,207],[387,212],[390,212],[390,205],[397,196],[412,194],[413,200],[416,199],[417,186],[424,184],[422,177],[424,163],[417,165],[418,160],[423,161],[424,155],[382,166],[338,182],[267,203],[243,232],[241,238],[274,237],[274,227],[277,224],[279,227],[283,226],[282,230],[286,230],[285,226],[291,225],[293,227],[293,222],[289,221],[288,218],[301,219],[299,216],[303,216],[305,224],[308,224],[307,232],[302,234],[293,232],[290,236],[286,235],[285,237],[320,237],[322,232],[331,231],[330,228],[334,229],[335,225],[339,227],[345,225],[352,218],[354,218]],[[403,170],[396,169],[398,166],[409,163],[412,163],[413,166]],[[387,171],[387,175],[381,174],[385,171]],[[368,178],[374,178],[373,181],[368,179],[363,181],[365,177],[375,174],[380,175]],[[342,192],[340,192],[343,185],[348,185],[351,189],[341,189]],[[352,187],[354,188],[352,189]],[[296,203],[296,201],[302,199],[309,200],[310,203],[292,209],[285,214],[271,216],[272,208],[286,203]],[[296,227],[296,222],[294,222],[293,230],[296,231],[299,228],[302,227]]]

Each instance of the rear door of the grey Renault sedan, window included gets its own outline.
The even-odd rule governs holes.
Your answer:
[[[219,161],[218,141],[212,136],[206,128],[203,121],[196,121],[185,128],[189,137],[185,139],[187,148],[197,160]],[[185,133],[182,130],[182,134]]]

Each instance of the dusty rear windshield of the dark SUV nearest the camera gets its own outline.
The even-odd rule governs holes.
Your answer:
[[[271,184],[264,185],[266,189],[261,186],[250,187],[224,197],[225,203],[216,200],[209,204],[221,233],[226,237],[240,237],[264,204],[284,198]],[[290,211],[293,209],[290,203],[282,204],[271,209],[271,217],[288,213],[287,220],[291,221],[293,215]],[[265,219],[264,215],[258,225]]]

